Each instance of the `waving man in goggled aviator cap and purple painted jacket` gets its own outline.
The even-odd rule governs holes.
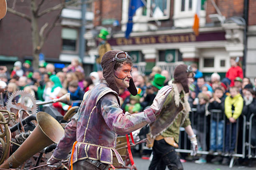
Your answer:
[[[53,164],[67,158],[70,150],[70,166],[73,170],[106,170],[113,163],[113,152],[124,165],[117,150],[117,135],[125,135],[156,120],[172,86],[159,90],[150,108],[130,114],[120,108],[119,89],[127,87],[137,94],[131,76],[132,58],[127,52],[111,50],[101,61],[103,77],[98,85],[86,92],[79,110],[65,127],[65,135],[47,161]],[[74,144],[73,144],[74,143]]]

